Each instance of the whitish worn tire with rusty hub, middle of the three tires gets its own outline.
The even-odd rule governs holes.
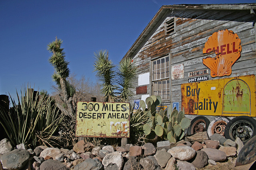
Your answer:
[[[213,119],[207,129],[208,136],[210,137],[214,133],[218,133],[224,136],[225,127],[229,121],[230,119],[228,119],[227,117],[216,117],[215,119]]]

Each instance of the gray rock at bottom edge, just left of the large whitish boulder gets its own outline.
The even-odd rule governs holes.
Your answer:
[[[84,162],[77,164],[74,170],[102,170],[103,166],[98,159],[88,158]]]

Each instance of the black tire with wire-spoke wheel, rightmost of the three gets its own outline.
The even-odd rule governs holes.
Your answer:
[[[225,138],[236,140],[239,137],[245,144],[256,134],[256,120],[248,116],[238,116],[230,120],[225,128]]]

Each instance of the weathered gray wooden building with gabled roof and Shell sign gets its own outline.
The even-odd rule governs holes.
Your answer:
[[[190,115],[188,103],[185,104],[184,101],[188,94],[194,92],[195,96],[199,91],[198,88],[193,91],[188,85],[183,85],[185,89],[182,89],[182,84],[251,75],[252,79],[247,80],[250,82],[245,82],[251,84],[248,88],[251,90],[250,95],[252,94],[249,101],[250,110],[246,115],[250,112],[249,116],[255,117],[255,13],[256,4],[162,6],[124,56],[131,57],[138,65],[135,95],[131,102],[158,95],[162,97],[166,106],[175,104],[179,110],[186,106],[185,114],[189,114],[191,119],[195,115],[211,115],[198,112],[196,107]],[[223,57],[228,55],[230,59]],[[225,70],[227,67],[229,69]],[[214,90],[215,87],[211,88]],[[221,102],[224,106],[224,92],[220,96],[219,106]],[[215,106],[210,98],[211,96],[208,96],[204,99],[204,103],[211,103],[207,104],[214,115],[216,110],[214,111]],[[200,107],[200,102],[198,106],[194,100],[192,104],[197,104],[197,109],[208,109],[205,104]],[[217,102],[215,104],[217,107]],[[232,111],[223,114],[223,108],[220,109],[222,110],[216,115],[233,116],[228,115]],[[240,115],[243,114],[245,112],[241,112]]]

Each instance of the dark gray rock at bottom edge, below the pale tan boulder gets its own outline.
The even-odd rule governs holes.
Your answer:
[[[40,170],[70,170],[70,168],[57,160],[48,159],[40,165]]]

